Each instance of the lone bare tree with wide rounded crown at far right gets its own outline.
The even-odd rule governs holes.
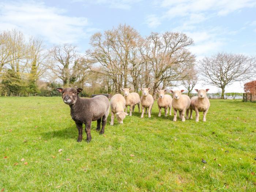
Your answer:
[[[217,53],[200,61],[203,80],[221,88],[222,99],[227,85],[251,78],[253,65],[255,58],[243,54]]]

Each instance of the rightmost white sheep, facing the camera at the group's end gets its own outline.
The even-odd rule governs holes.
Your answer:
[[[206,93],[209,89],[195,89],[198,96],[191,98],[190,104],[190,118],[192,119],[193,110],[196,112],[196,122],[199,121],[199,112],[203,112],[203,122],[206,122],[206,114],[210,108],[210,101],[207,98]]]

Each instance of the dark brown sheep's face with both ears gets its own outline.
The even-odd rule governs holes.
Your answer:
[[[62,93],[62,99],[67,105],[74,105],[77,101],[78,94],[83,90],[82,88],[56,88],[57,91]]]

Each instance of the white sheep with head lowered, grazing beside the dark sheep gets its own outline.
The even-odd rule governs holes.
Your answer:
[[[111,108],[111,122],[110,125],[114,124],[114,116],[116,114],[116,118],[118,123],[123,123],[123,120],[125,116],[128,115],[128,113],[124,112],[125,108],[125,99],[123,95],[121,94],[115,94],[110,99],[110,108]]]

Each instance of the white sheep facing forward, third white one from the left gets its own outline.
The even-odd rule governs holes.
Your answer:
[[[142,114],[140,118],[143,118],[144,108],[146,108],[146,113],[148,109],[148,117],[151,117],[151,113],[152,113],[151,109],[154,104],[154,98],[152,95],[148,93],[150,89],[151,88],[140,88],[140,90],[142,90],[142,97],[140,98],[140,103],[142,105]]]

